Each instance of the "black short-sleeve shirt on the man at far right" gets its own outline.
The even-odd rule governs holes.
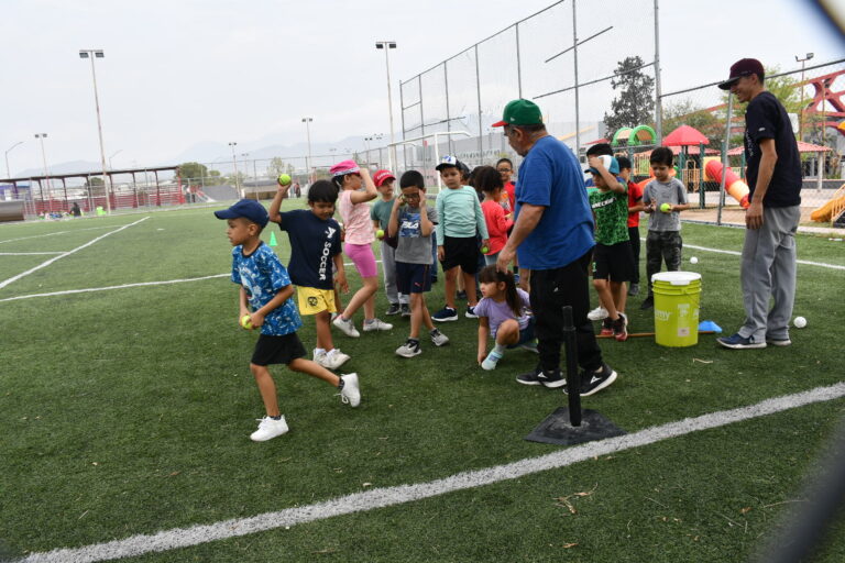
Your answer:
[[[801,203],[801,161],[786,108],[769,91],[757,95],[745,113],[746,180],[754,196],[760,167],[760,141],[775,140],[778,162],[766,190],[766,207],[791,207]]]

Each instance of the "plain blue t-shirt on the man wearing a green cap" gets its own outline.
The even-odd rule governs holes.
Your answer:
[[[551,135],[538,140],[519,166],[517,217],[525,203],[546,209],[516,250],[520,267],[560,268],[595,245],[593,213],[580,163],[567,145]]]

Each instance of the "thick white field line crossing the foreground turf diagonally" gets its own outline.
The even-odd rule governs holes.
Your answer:
[[[794,409],[804,405],[838,399],[843,396],[845,396],[845,383],[838,383],[830,387],[817,387],[804,393],[767,399],[748,407],[702,415],[700,417],[688,418],[677,422],[669,422],[659,427],[647,428],[634,432],[633,434],[567,448],[539,457],[529,457],[506,465],[497,465],[484,470],[468,471],[429,483],[376,488],[353,493],[344,497],[314,505],[287,508],[277,512],[266,512],[249,518],[226,520],[211,525],[198,525],[190,528],[176,528],[154,534],[132,536],[123,540],[114,540],[83,548],[68,548],[43,553],[32,553],[21,561],[26,563],[81,563],[106,561],[131,558],[151,552],[188,548],[200,543],[219,541],[278,528],[287,528],[336,516],[362,512],[404,503],[413,503],[457,490],[515,479],[544,471],[557,470],[578,462],[591,460],[599,455],[622,452],[633,448],[660,442],[662,440],[683,437],[692,432],[710,430],[734,422],[765,417],[767,415]]]

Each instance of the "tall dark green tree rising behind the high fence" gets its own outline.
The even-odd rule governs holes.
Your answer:
[[[611,112],[604,114],[608,135],[619,128],[634,128],[654,122],[655,79],[643,71],[643,59],[626,57],[616,66],[611,86],[619,93],[611,102]]]

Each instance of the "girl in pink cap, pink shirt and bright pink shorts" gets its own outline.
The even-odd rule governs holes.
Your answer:
[[[375,265],[372,242],[375,240],[370,223],[367,201],[375,199],[378,192],[370,177],[370,170],[360,168],[354,161],[343,161],[331,167],[332,181],[340,194],[338,196],[340,217],[343,219],[345,239],[343,252],[352,260],[364,285],[355,291],[352,299],[332,324],[345,335],[358,338],[352,316],[361,306],[364,307],[364,332],[391,330],[393,324],[375,318],[375,291],[378,289],[378,268]],[[360,188],[364,187],[364,191]]]

